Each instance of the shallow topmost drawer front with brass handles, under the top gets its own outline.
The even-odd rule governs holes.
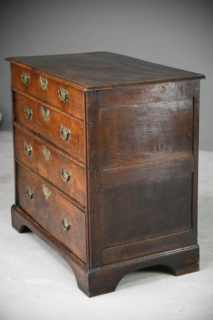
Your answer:
[[[62,81],[54,81],[44,72],[12,64],[12,87],[27,92],[50,105],[73,116],[84,119],[83,91],[67,86]]]

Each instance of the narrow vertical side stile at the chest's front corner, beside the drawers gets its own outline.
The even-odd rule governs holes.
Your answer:
[[[98,91],[86,92],[89,267],[102,265]]]

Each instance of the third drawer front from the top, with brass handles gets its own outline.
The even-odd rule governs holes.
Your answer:
[[[15,157],[84,206],[84,168],[62,155],[46,141],[17,125],[14,133]]]

